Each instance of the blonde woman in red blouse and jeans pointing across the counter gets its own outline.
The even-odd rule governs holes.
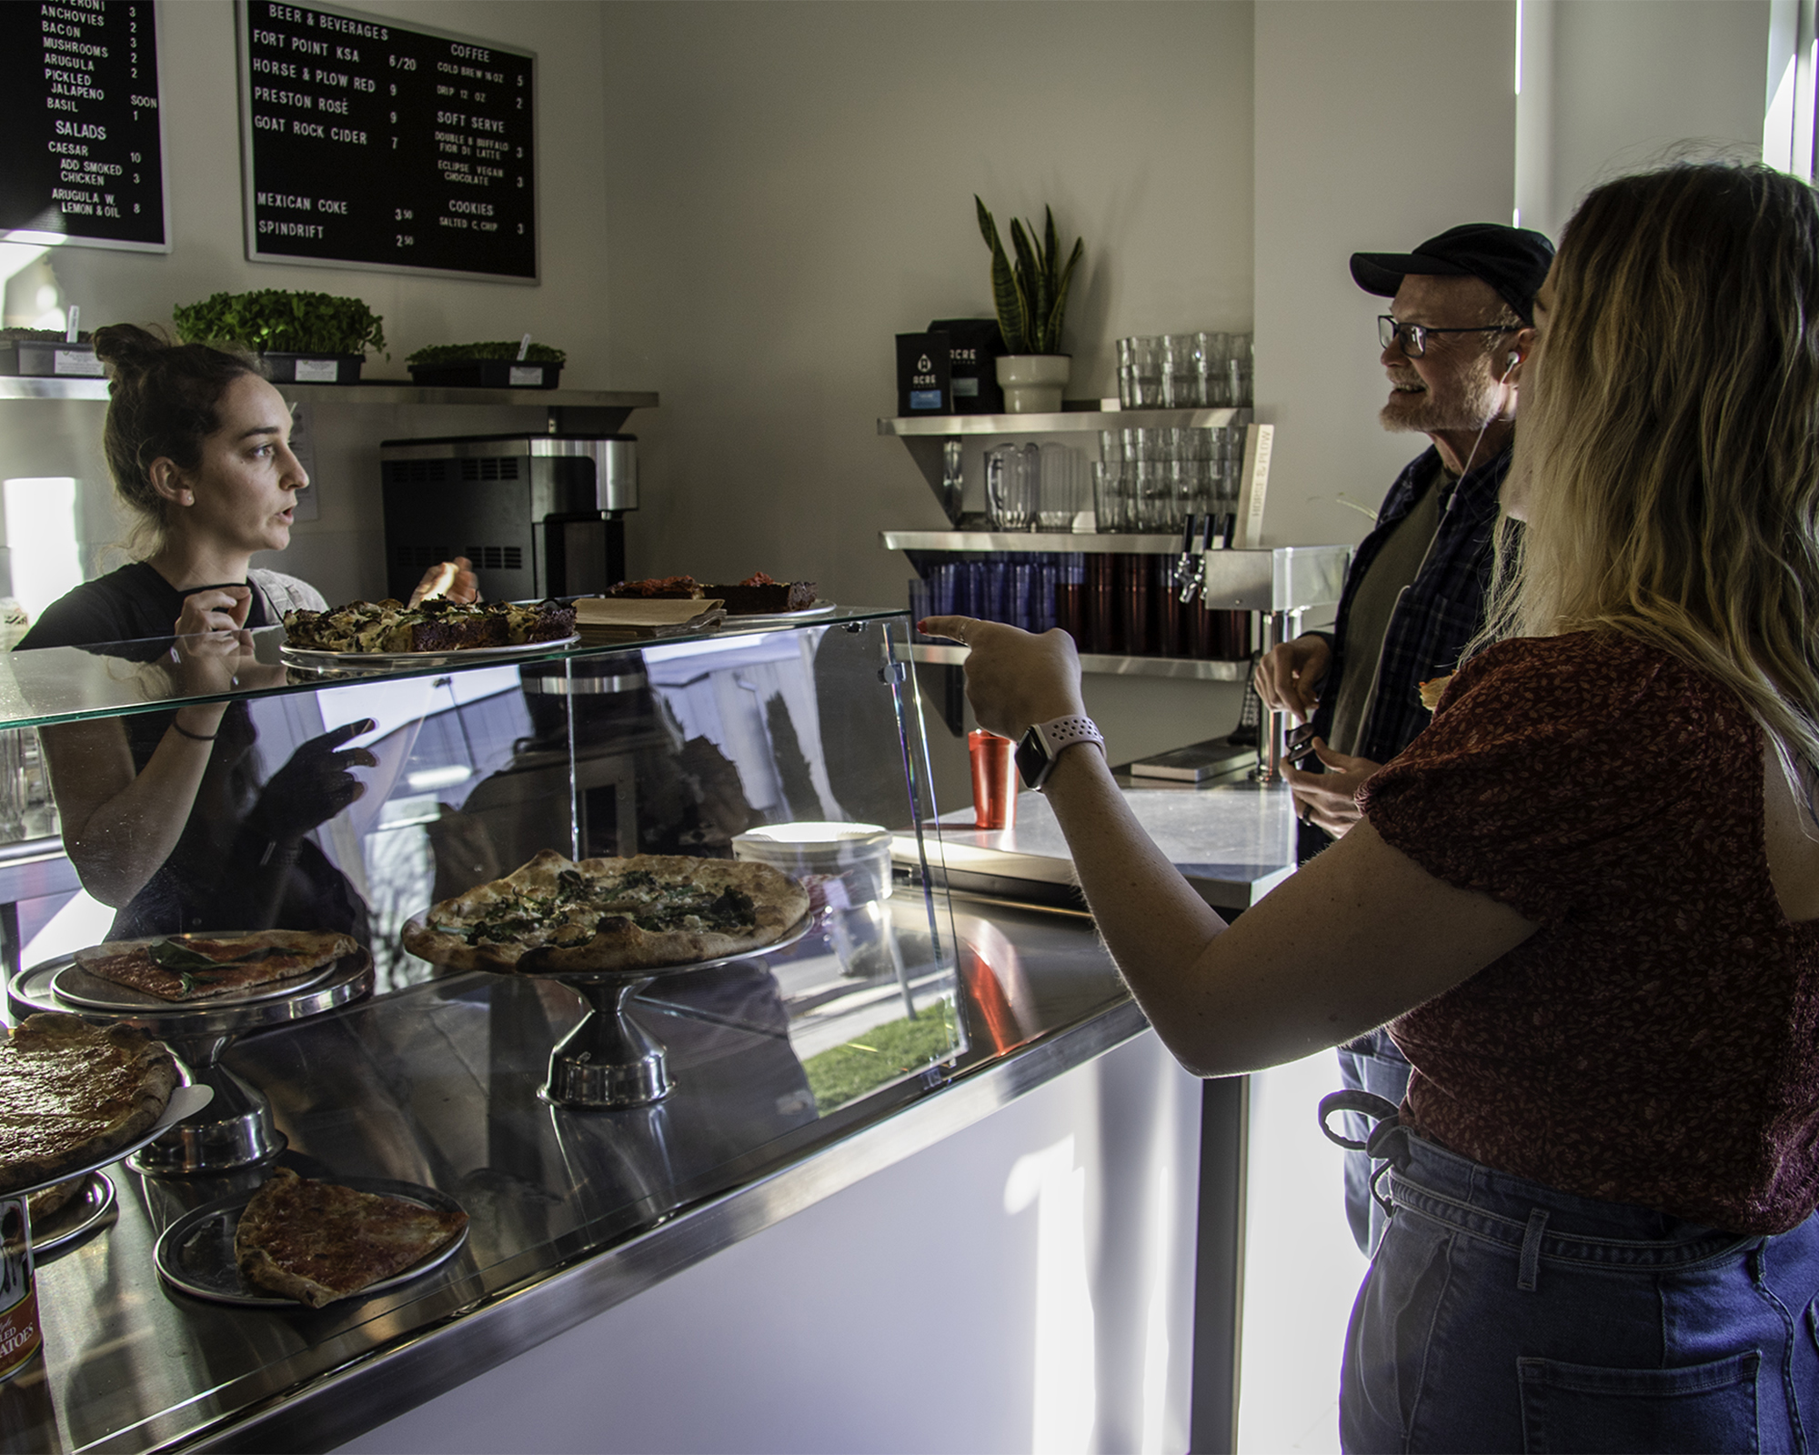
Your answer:
[[[1390,1226],[1346,1450],[1806,1450],[1819,1431],[1819,202],[1764,167],[1588,195],[1537,298],[1501,638],[1230,929],[1068,744],[1048,795],[1199,1075],[1382,1022]],[[979,720],[1080,713],[968,618]]]

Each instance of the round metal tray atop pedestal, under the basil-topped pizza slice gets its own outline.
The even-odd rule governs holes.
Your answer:
[[[222,933],[209,938],[251,938],[255,933]],[[155,935],[120,944],[155,944],[167,938],[175,937]],[[371,973],[373,957],[362,948],[300,977],[255,986],[246,995],[164,1000],[89,975],[76,964],[75,955],[58,955],[15,975],[7,998],[13,1009],[24,1015],[33,1011],[62,1011],[89,1018],[106,1015],[109,1020],[126,1020],[155,1035],[244,1035],[344,1006],[367,989]]]

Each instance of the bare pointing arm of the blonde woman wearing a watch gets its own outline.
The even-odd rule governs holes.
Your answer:
[[[980,726],[1015,737],[1080,711],[1064,633],[953,617],[924,631],[973,649],[968,697]],[[1226,926],[1139,828],[1097,749],[1062,753],[1046,797],[1131,993],[1202,1077],[1337,1046],[1466,980],[1537,928],[1433,878],[1368,822]]]

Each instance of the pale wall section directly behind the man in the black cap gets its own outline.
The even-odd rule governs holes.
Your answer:
[[[1508,222],[1515,4],[1257,5],[1257,407],[1277,424],[1270,544],[1353,542],[1426,447],[1384,435],[1384,300],[1355,251],[1404,251],[1459,222]]]

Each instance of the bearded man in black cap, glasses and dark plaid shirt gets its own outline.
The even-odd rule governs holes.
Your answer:
[[[1428,726],[1421,684],[1452,673],[1482,622],[1535,291],[1552,260],[1541,233],[1493,222],[1450,227],[1413,253],[1352,255],[1357,286],[1393,300],[1379,318],[1390,398],[1377,418],[1432,446],[1395,478],[1359,544],[1333,629],[1284,642],[1257,666],[1262,700],[1311,729],[1317,768],[1286,773],[1302,862],[1359,820],[1359,788]],[[1341,1046],[1339,1066],[1350,1088],[1393,1102],[1408,1089],[1388,1031]],[[1361,1151],[1346,1153],[1346,1215],[1372,1253],[1382,1213]]]

